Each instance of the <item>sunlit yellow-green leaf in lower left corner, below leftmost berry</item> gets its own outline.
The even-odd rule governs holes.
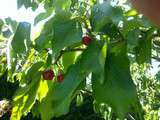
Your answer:
[[[32,82],[26,86],[19,88],[13,98],[13,110],[11,120],[20,120],[25,112],[29,112],[34,105],[36,94],[41,79],[41,72],[33,74]]]

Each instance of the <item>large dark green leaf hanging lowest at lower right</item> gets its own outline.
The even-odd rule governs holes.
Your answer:
[[[110,48],[107,53],[105,82],[100,84],[99,79],[103,78],[102,75],[93,74],[93,95],[98,103],[109,104],[116,114],[123,118],[137,100],[136,88],[126,56],[126,45],[119,43]]]

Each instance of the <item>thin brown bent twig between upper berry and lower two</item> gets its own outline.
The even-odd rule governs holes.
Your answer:
[[[57,57],[57,59],[55,60],[54,64],[57,64],[57,62],[59,61],[59,59],[63,56],[64,53],[66,52],[77,52],[77,51],[84,51],[84,48],[75,48],[75,49],[66,49],[66,50],[61,50],[59,56]]]

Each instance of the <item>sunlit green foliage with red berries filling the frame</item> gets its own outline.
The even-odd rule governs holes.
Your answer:
[[[0,21],[0,75],[4,79],[7,74],[0,79],[0,91],[11,92],[0,99],[10,100],[11,120],[30,114],[42,120],[64,119],[75,101],[74,106],[92,102],[93,115],[100,115],[95,119],[160,118],[160,73],[151,74],[152,63],[160,61],[160,31],[129,1],[17,4],[32,10],[43,5],[45,12],[35,17],[34,25],[44,25],[34,37],[28,22]],[[88,104],[86,93],[93,98]]]

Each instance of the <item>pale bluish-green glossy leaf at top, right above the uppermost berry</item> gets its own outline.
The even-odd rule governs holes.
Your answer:
[[[119,21],[123,20],[123,11],[119,7],[112,7],[109,2],[96,4],[92,8],[91,26],[95,31],[101,29],[108,23],[113,22],[118,25]]]

